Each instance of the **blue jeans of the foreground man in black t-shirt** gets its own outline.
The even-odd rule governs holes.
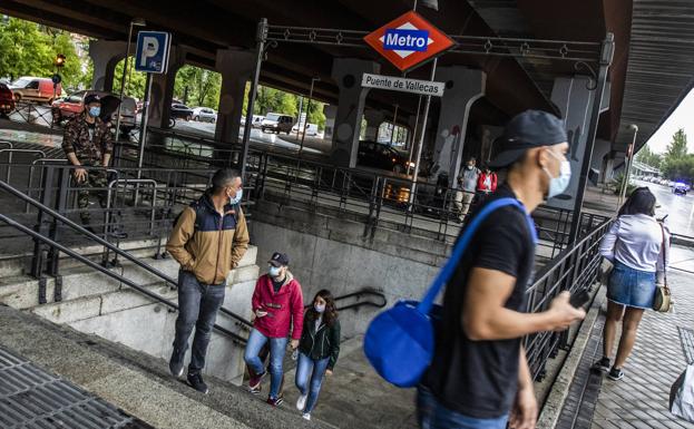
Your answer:
[[[417,420],[422,429],[506,429],[508,415],[476,419],[443,407],[424,387],[420,386],[417,393]]]

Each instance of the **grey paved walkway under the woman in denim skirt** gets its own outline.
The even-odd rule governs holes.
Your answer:
[[[673,248],[669,285],[673,313],[646,312],[622,381],[590,373],[602,355],[604,311],[594,325],[557,428],[692,428],[668,410],[669,390],[694,358],[694,250]],[[682,271],[682,270],[687,270]],[[692,272],[690,272],[692,271]],[[605,309],[606,300],[603,300]],[[615,344],[616,347],[616,344]]]

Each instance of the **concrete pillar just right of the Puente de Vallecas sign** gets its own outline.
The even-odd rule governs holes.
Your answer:
[[[433,150],[434,166],[448,173],[451,185],[460,172],[472,104],[485,95],[487,75],[461,66],[441,67],[437,81],[446,82]],[[434,167],[436,168],[436,167]]]

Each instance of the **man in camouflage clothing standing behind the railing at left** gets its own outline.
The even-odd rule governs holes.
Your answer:
[[[100,107],[101,101],[96,94],[85,97],[85,111],[68,121],[62,136],[62,149],[75,166],[74,186],[79,188],[77,205],[82,209],[79,215],[82,224],[91,232],[94,230],[89,226],[90,215],[87,211],[89,194],[96,194],[101,207],[106,206],[106,168],[114,149],[111,133],[99,118]]]

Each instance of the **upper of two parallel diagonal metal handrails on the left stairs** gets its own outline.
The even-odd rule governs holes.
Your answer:
[[[125,257],[126,260],[133,262],[134,264],[136,264],[137,266],[139,266],[140,269],[149,272],[150,274],[164,280],[165,282],[169,283],[170,285],[174,285],[175,287],[178,286],[178,282],[176,280],[174,280],[173,277],[169,277],[168,275],[166,275],[164,272],[155,269],[154,266],[146,264],[144,262],[141,262],[139,259],[133,256],[129,252],[126,252],[117,246],[115,246],[114,244],[107,242],[106,240],[101,238],[100,236],[92,234],[91,232],[87,231],[85,227],[82,227],[81,225],[70,221],[69,218],[67,218],[66,216],[61,215],[60,213],[56,212],[55,209],[41,204],[40,202],[29,197],[28,195],[23,194],[22,192],[18,191],[17,188],[14,188],[13,186],[11,186],[10,184],[0,181],[0,188],[2,188],[3,191],[14,195],[16,197],[23,199],[25,202],[31,204],[32,206],[37,207],[39,211],[48,213],[49,215],[51,215],[52,217],[59,220],[60,222],[62,222],[63,224],[66,224],[67,226],[71,227],[72,230],[79,232],[80,234],[89,237],[90,240],[101,244],[102,246],[105,246],[106,248],[108,248],[109,251],[118,254],[119,256]],[[67,252],[66,252],[67,253]],[[227,310],[222,308],[219,310],[222,313],[236,319],[237,321],[242,322],[242,323],[248,323],[248,321]]]

